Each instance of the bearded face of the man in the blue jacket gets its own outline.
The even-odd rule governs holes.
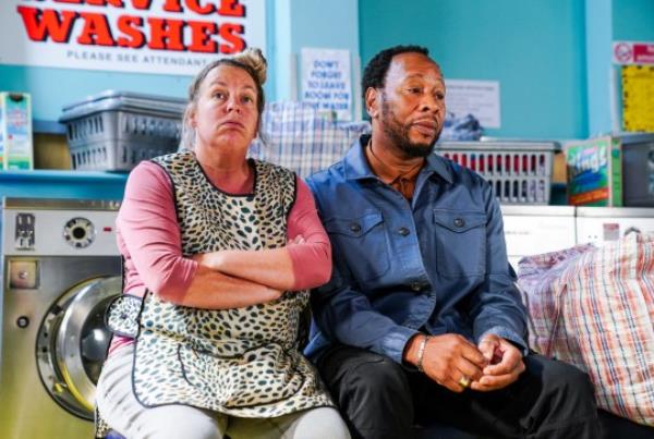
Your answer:
[[[422,53],[392,58],[380,96],[384,133],[408,157],[425,157],[443,131],[445,82],[438,66]]]

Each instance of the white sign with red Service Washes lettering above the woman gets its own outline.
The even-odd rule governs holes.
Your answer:
[[[266,49],[261,0],[1,0],[0,64],[193,75]]]

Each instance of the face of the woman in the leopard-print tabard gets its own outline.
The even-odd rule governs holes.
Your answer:
[[[218,65],[203,81],[191,124],[196,148],[247,150],[258,126],[256,85],[243,69]]]

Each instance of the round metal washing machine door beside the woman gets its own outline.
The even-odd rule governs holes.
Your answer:
[[[66,411],[86,419],[94,416],[95,388],[111,340],[105,310],[121,289],[120,277],[73,286],[50,307],[37,337],[37,365],[46,390]]]

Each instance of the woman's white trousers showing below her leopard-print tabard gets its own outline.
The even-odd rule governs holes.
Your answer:
[[[132,390],[134,346],[107,359],[98,380],[100,414],[126,439],[349,439],[348,427],[332,407],[310,408],[271,418],[227,416],[189,405],[144,407]]]

